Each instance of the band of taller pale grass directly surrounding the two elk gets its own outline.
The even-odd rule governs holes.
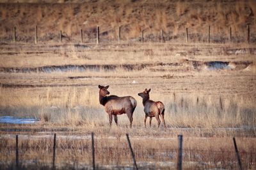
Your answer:
[[[138,91],[140,92],[140,91]],[[154,92],[154,91],[153,91]],[[151,99],[161,100],[166,106],[166,124],[169,127],[253,127],[256,122],[255,106],[248,98],[237,96],[198,96],[198,94],[175,94],[163,96],[154,94]],[[47,88],[33,94],[27,90],[1,88],[1,110],[3,115],[15,117],[36,117],[43,122],[65,125],[108,125],[104,108],[99,104],[97,86],[93,91],[87,88]],[[116,92],[119,96],[129,95]],[[134,113],[134,125],[143,126],[143,106],[140,97]],[[127,118],[120,116],[120,124],[127,124]]]

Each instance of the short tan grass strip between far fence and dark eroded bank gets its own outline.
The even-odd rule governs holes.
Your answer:
[[[40,67],[83,64],[145,64],[198,61],[255,62],[254,44],[125,43],[122,45],[26,43],[1,45],[0,67]],[[107,59],[106,59],[107,58]],[[104,62],[102,62],[104,61]]]

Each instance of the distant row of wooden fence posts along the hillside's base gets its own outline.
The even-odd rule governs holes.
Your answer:
[[[186,27],[186,32],[185,32],[185,36],[186,36],[186,43],[189,43],[189,31],[188,31],[188,27]],[[250,25],[247,25],[247,28],[246,28],[246,40],[247,40],[247,43],[250,44],[251,43],[251,34],[252,34],[252,31],[250,29]],[[121,26],[118,26],[118,43],[120,43],[121,41]],[[145,29],[142,29],[141,30],[141,43],[144,43],[145,39],[144,39],[144,32],[145,32]],[[63,38],[63,35],[62,35],[62,31],[60,31],[59,33],[59,41],[61,43],[62,41],[62,38]],[[163,29],[161,29],[161,36],[160,36],[161,39],[159,39],[159,36],[157,35],[157,39],[158,41],[161,43],[164,43],[164,31]],[[232,27],[230,26],[229,27],[229,42],[230,43],[234,43],[233,41],[233,32],[232,32]],[[206,40],[208,43],[211,42],[211,25],[208,26],[208,32],[207,32],[207,40]],[[13,42],[17,42],[17,28],[16,27],[13,27]],[[84,43],[84,39],[83,39],[83,29],[80,29],[80,42],[81,43]],[[35,26],[35,44],[38,43],[38,25]],[[100,27],[97,26],[96,27],[96,43],[99,44],[100,43]]]

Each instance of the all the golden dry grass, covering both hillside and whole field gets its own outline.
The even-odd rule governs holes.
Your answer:
[[[250,11],[256,12],[254,1],[1,3],[0,117],[39,121],[0,124],[0,169],[16,169],[15,134],[20,136],[20,169],[51,169],[54,133],[57,169],[92,169],[91,132],[98,169],[132,169],[126,133],[140,169],[175,169],[178,134],[184,138],[184,169],[238,169],[233,137],[243,168],[255,169],[256,36]],[[35,23],[40,28],[36,45]],[[207,34],[200,31],[207,32],[211,23],[207,43]],[[250,44],[243,31],[248,24]],[[13,43],[15,25],[23,27]],[[99,45],[96,25],[107,32]],[[120,44],[115,41],[118,25],[126,28]],[[228,42],[230,25],[236,30],[233,43]],[[140,43],[142,27],[147,29],[145,43]],[[185,27],[195,33],[189,43]],[[81,28],[87,32],[83,43]],[[162,28],[165,43],[156,36]],[[118,126],[109,127],[98,85],[137,100],[131,129],[125,114],[118,116]],[[166,128],[162,123],[157,128],[155,118],[152,127],[148,122],[144,127],[138,93],[146,88],[150,99],[164,103]]]

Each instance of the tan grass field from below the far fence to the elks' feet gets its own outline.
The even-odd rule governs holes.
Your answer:
[[[154,101],[165,104],[169,127],[253,127],[256,122],[253,45],[150,43],[88,45],[81,49],[76,45],[38,48],[20,44],[1,48],[3,69],[26,68],[33,72],[1,73],[1,115],[36,117],[71,126],[108,125],[97,88],[108,84],[111,94],[133,96],[138,101],[135,126],[143,125],[143,106],[137,94],[145,88],[152,89]],[[205,62],[211,61],[229,62],[232,69],[209,70]],[[66,64],[92,68],[65,71]],[[131,66],[125,69],[124,64]],[[50,71],[44,71],[45,66]],[[55,66],[60,70],[51,71]],[[110,66],[116,67],[109,69]],[[120,122],[127,123],[125,115]]]

